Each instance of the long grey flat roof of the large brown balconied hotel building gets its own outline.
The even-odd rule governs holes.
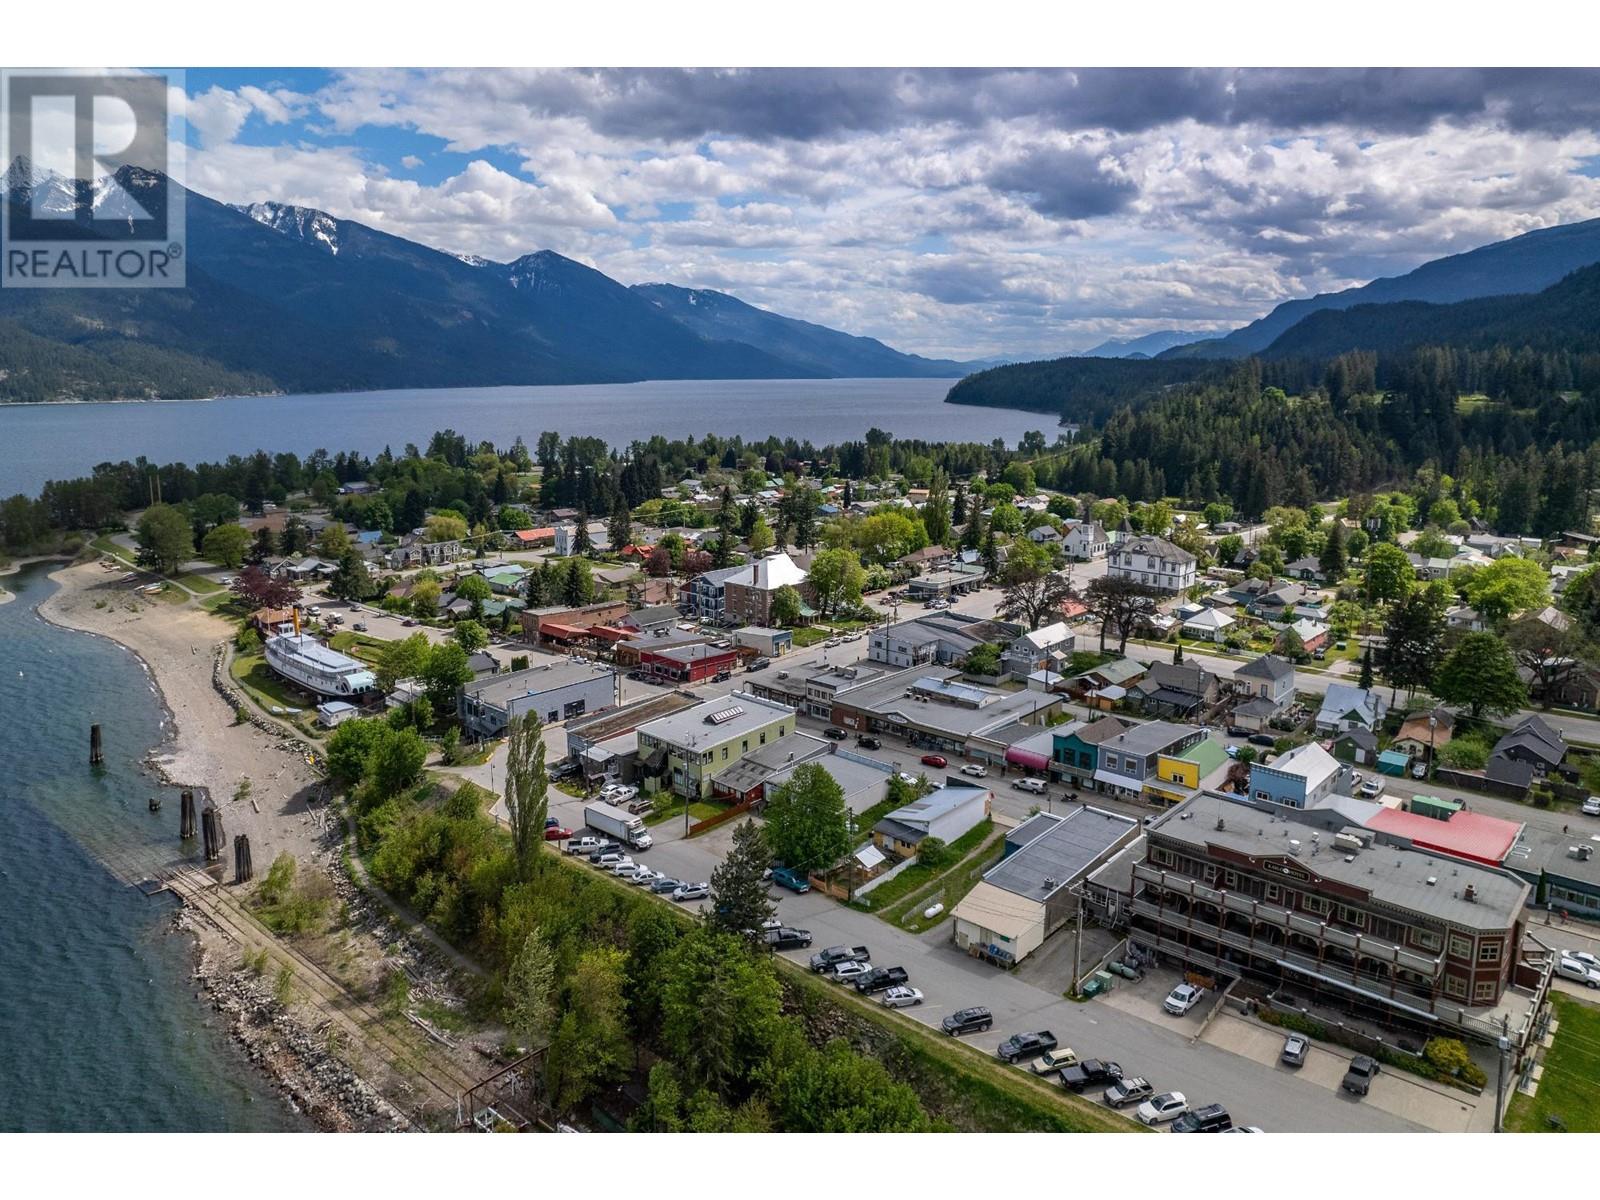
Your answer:
[[[1317,813],[1315,808],[1306,811]],[[1222,829],[1216,827],[1218,821]],[[1462,928],[1509,930],[1530,891],[1526,882],[1507,870],[1426,850],[1389,845],[1358,853],[1339,850],[1333,845],[1336,830],[1299,819],[1299,810],[1272,805],[1269,811],[1226,792],[1197,792],[1147,832],[1152,840],[1178,842],[1202,853],[1218,846],[1256,862],[1293,858],[1302,870],[1365,891],[1379,904]],[[1318,838],[1312,840],[1312,834]],[[1299,853],[1293,853],[1291,842],[1299,842]],[[1474,885],[1470,901],[1461,898],[1467,883]]]

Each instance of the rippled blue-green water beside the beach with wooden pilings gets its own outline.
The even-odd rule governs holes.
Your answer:
[[[46,571],[0,579],[0,1131],[309,1128],[197,997],[173,901],[106,866],[179,851],[178,795],[141,768],[163,710],[133,654],[34,611]]]

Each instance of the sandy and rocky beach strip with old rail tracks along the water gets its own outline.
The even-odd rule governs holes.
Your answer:
[[[126,646],[150,672],[166,706],[166,739],[150,765],[170,782],[205,789],[222,810],[226,837],[250,837],[259,878],[280,853],[301,870],[325,874],[341,918],[323,934],[274,938],[245,917],[243,890],[232,885],[232,854],[222,858],[222,888],[192,886],[176,925],[197,938],[195,982],[251,1061],[323,1130],[450,1128],[454,1096],[494,1061],[501,1034],[445,1038],[386,1019],[374,1006],[392,971],[402,971],[413,998],[459,1008],[453,963],[427,933],[394,923],[379,901],[358,890],[341,862],[342,822],[328,811],[325,786],[293,744],[262,717],[267,730],[235,722],[213,682],[218,650],[232,626],[203,608],[152,602],[128,589],[120,565],[99,562],[51,573],[59,590],[40,614],[67,629]],[[250,778],[250,798],[235,800]],[[176,814],[173,816],[176,821]],[[197,862],[192,864],[198,867]],[[141,870],[142,867],[134,867]],[[194,882],[195,872],[187,878]],[[262,978],[250,955],[270,955]],[[293,998],[282,1003],[270,971],[293,976]]]

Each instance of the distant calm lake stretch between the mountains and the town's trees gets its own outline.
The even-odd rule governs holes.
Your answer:
[[[712,379],[574,387],[461,387],[336,392],[192,403],[0,405],[0,496],[34,494],[51,478],[86,475],[96,462],[213,462],[256,450],[307,454],[395,453],[438,429],[531,446],[554,429],[613,446],[664,437],[768,435],[816,445],[859,438],[877,426],[930,442],[1008,445],[1030,429],[1054,438],[1042,413],[944,403],[954,379]]]

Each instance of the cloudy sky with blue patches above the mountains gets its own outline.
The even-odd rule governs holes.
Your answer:
[[[189,184],[931,355],[1226,330],[1600,216],[1576,70],[195,70]]]

